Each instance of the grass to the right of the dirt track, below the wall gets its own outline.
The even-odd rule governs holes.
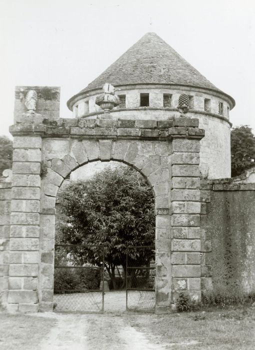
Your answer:
[[[168,349],[255,349],[255,307],[132,315],[131,325]]]

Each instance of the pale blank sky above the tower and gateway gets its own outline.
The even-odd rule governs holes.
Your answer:
[[[66,101],[148,31],[156,32],[236,106],[255,131],[254,0],[0,0],[0,134],[15,85],[61,87]]]

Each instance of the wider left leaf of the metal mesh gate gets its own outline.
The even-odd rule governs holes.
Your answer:
[[[54,252],[54,311],[102,313],[104,246],[55,244]]]

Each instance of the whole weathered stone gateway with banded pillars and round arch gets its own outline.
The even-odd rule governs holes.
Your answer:
[[[37,94],[43,90],[36,89]],[[53,103],[57,90],[47,89]],[[48,105],[39,107],[41,113],[45,107],[44,115],[16,111],[10,127],[14,150],[5,251],[7,308],[52,310],[55,196],[72,170],[94,160],[124,162],[140,171],[153,189],[156,312],[169,310],[181,290],[198,301],[199,141],[204,135],[198,120],[62,119],[56,114],[52,118]]]

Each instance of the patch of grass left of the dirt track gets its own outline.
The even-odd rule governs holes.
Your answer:
[[[35,350],[54,325],[53,318],[0,312],[0,349]]]

